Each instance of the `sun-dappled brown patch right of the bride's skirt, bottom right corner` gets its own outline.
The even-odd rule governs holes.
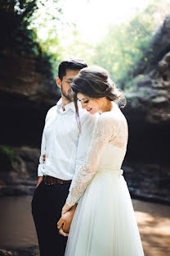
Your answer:
[[[133,200],[145,256],[170,256],[170,206]]]

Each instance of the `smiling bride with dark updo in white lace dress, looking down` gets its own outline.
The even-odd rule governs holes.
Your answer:
[[[143,256],[132,200],[121,169],[128,124],[116,103],[120,92],[101,67],[83,68],[71,89],[77,119],[78,100],[87,112],[101,112],[101,116],[62,209],[65,216],[78,203],[65,256]],[[79,121],[78,126],[81,132]],[[58,228],[63,223],[61,217]]]

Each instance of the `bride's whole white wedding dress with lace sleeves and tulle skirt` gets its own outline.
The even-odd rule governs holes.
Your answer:
[[[65,256],[143,256],[141,237],[121,165],[128,125],[116,103],[99,117],[83,166],[66,203],[78,207]]]

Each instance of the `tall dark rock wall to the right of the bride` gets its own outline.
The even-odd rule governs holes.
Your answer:
[[[154,66],[125,91],[129,143],[125,176],[133,197],[170,202],[170,18],[156,34]]]

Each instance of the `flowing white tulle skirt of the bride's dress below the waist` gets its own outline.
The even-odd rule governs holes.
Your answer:
[[[143,256],[122,170],[98,171],[78,202],[65,256]]]

